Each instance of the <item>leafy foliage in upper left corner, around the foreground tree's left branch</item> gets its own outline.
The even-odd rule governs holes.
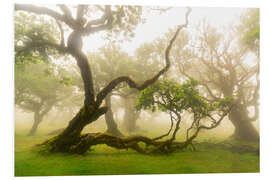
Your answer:
[[[24,12],[16,12],[15,26],[15,63],[48,62],[50,55],[56,57],[54,49],[47,46],[32,46],[31,43],[56,42],[59,39],[57,27],[52,20]]]

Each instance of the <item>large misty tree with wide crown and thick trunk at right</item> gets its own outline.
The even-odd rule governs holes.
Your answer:
[[[240,25],[227,29],[218,31],[202,20],[196,35],[181,31],[171,52],[175,68],[167,76],[176,77],[180,83],[191,77],[198,79],[204,97],[210,101],[234,97],[236,105],[229,114],[235,127],[232,137],[257,142],[259,135],[252,122],[258,119],[259,112],[259,11],[251,9],[246,13]],[[160,49],[166,47],[164,40],[172,33],[170,30],[156,39],[148,54],[162,58]]]

